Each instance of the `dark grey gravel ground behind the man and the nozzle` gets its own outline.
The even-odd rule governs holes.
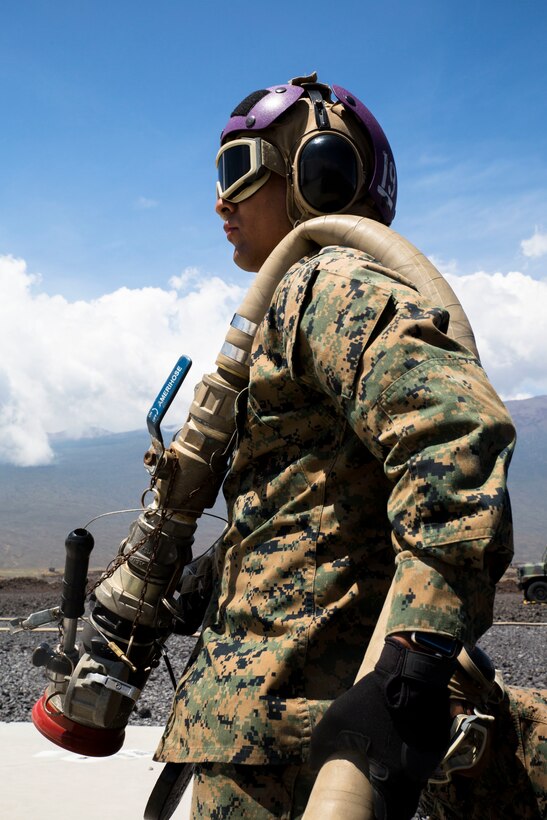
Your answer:
[[[20,617],[57,606],[60,597],[58,579],[0,581],[0,617]],[[529,625],[547,622],[547,605],[523,604],[522,594],[515,585],[505,582],[498,590],[495,621],[511,623],[492,626],[481,646],[501,669],[505,682],[547,689],[547,626]],[[7,626],[7,622],[1,621],[0,625]],[[55,633],[0,632],[1,721],[30,720],[30,710],[45,688],[43,669],[32,666],[32,651],[42,641],[53,644],[55,640]],[[172,636],[169,640],[169,658],[175,677],[181,674],[193,644],[192,638]],[[171,681],[162,663],[150,676],[130,722],[164,724],[172,693]]]

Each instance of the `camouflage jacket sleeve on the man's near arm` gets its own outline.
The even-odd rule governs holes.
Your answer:
[[[396,553],[388,632],[474,644],[512,555],[506,471],[515,432],[448,316],[379,273],[309,278],[291,359],[384,466]],[[296,284],[296,286],[298,286]],[[379,510],[379,515],[385,511]]]

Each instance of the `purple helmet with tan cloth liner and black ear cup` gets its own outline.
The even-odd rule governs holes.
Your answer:
[[[230,144],[236,140],[232,156]],[[397,172],[380,124],[354,94],[318,83],[315,74],[242,100],[222,132],[221,146],[219,195],[226,192],[226,199],[232,191],[233,201],[249,196],[273,171],[288,178],[292,221],[363,212],[390,225],[395,216]],[[242,170],[240,179],[252,188],[238,187]]]

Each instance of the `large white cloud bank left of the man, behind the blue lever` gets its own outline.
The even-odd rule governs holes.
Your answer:
[[[54,432],[143,428],[185,353],[193,367],[166,419],[182,422],[194,385],[215,370],[243,295],[193,269],[174,277],[169,290],[122,288],[68,302],[41,290],[22,260],[0,257],[0,460],[47,463]]]

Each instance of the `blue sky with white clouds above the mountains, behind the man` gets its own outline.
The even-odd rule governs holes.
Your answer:
[[[3,259],[13,356],[0,372],[0,401],[12,438],[31,435],[18,378],[37,356],[44,407],[58,391],[41,422],[45,440],[63,427],[62,413],[77,433],[61,409],[73,396],[59,350],[69,370],[83,362],[100,395],[107,373],[86,360],[93,323],[110,337],[104,356],[124,350],[127,367],[154,370],[157,359],[135,354],[133,336],[120,341],[120,325],[130,324],[120,319],[124,305],[147,326],[147,349],[158,346],[158,304],[178,311],[178,335],[171,328],[163,338],[170,349],[144,393],[188,347],[199,347],[200,366],[200,357],[214,358],[197,344],[192,317],[201,311],[200,324],[216,328],[249,281],[213,212],[219,133],[248,92],[312,70],[353,91],[381,122],[398,166],[393,227],[448,274],[479,325],[495,386],[508,398],[547,392],[545,356],[539,362],[547,345],[539,330],[528,334],[545,316],[539,306],[547,310],[546,34],[542,0],[5,0],[0,267]],[[213,315],[215,277],[226,299]],[[485,311],[491,292],[494,315]],[[32,326],[41,321],[38,339]],[[499,338],[500,322],[514,326],[521,358]],[[140,413],[144,396],[139,402]],[[96,415],[89,427],[108,426]],[[118,426],[138,424],[120,410]]]

